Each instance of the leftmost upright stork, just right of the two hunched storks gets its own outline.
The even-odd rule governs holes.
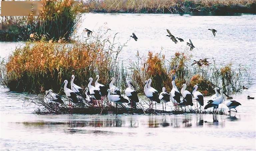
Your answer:
[[[67,88],[68,80],[64,80],[63,84],[65,84],[64,85],[64,92],[65,92],[66,96],[68,97],[69,105],[70,105],[70,101],[75,103],[75,104],[84,105],[83,101],[81,99],[77,98],[77,94],[74,91]]]

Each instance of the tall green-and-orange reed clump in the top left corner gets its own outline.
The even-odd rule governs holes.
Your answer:
[[[31,13],[1,17],[0,41],[70,40],[79,22],[81,8],[81,3],[73,0],[42,0],[42,11],[38,16]]]

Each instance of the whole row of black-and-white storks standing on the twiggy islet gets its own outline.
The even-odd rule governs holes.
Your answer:
[[[69,100],[69,106],[73,104],[76,104],[77,106],[84,106],[84,101],[91,105],[99,105],[103,106],[103,99],[107,97],[108,101],[113,102],[116,104],[116,108],[118,107],[118,104],[127,104],[131,108],[136,108],[137,103],[139,103],[138,98],[138,92],[136,91],[135,86],[132,84],[130,80],[127,80],[127,88],[125,90],[125,96],[128,98],[126,99],[125,96],[121,95],[121,91],[118,87],[114,85],[115,78],[111,78],[111,80],[107,83],[107,86],[100,84],[98,82],[99,75],[96,76],[96,80],[94,82],[94,86],[92,85],[93,78],[89,78],[87,86],[85,90],[83,90],[81,87],[74,84],[75,76],[71,76],[70,80],[70,88],[67,88],[68,81],[64,80],[64,92],[66,97]],[[196,100],[196,106],[201,109],[201,107],[204,106],[204,96],[201,92],[198,91],[198,86],[195,85],[193,87],[192,92],[190,93],[188,90],[186,90],[187,86],[190,84],[190,81],[187,80],[185,84],[182,85],[181,91],[176,87],[175,85],[175,75],[171,74],[172,79],[172,90],[171,92],[167,92],[166,88],[162,88],[162,92],[160,94],[156,89],[151,87],[152,79],[148,79],[145,81],[144,85],[144,94],[149,99],[149,109],[156,109],[156,103],[160,104],[162,103],[162,107],[164,110],[165,103],[165,111],[166,111],[166,103],[171,102],[175,109],[183,109],[189,106],[193,106],[193,98]],[[61,86],[61,87],[62,87]],[[215,94],[211,97],[211,99],[207,102],[204,109],[213,108],[214,110],[217,110],[219,108],[219,105],[225,102],[226,106],[229,108],[229,112],[232,111],[231,109],[235,109],[239,105],[241,105],[239,102],[236,102],[234,100],[232,101],[225,101],[225,92],[223,90],[219,90],[218,88],[215,88]],[[220,94],[220,95],[219,95]],[[226,95],[227,96],[227,95]],[[249,96],[248,96],[249,97]],[[253,98],[254,99],[254,98]],[[49,104],[63,104],[64,102],[61,100],[61,97],[53,93],[52,90],[46,91],[46,95],[44,97],[44,101]],[[118,108],[117,108],[118,109]],[[235,109],[234,112],[237,112]]]

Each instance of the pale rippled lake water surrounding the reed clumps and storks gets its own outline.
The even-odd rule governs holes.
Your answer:
[[[36,106],[24,104],[30,95],[1,86],[0,150],[255,150],[256,103],[246,99],[256,96],[255,25],[255,15],[85,14],[79,38],[86,37],[81,34],[83,28],[95,33],[100,27],[110,28],[105,37],[109,39],[119,32],[117,42],[128,40],[119,55],[125,64],[134,61],[137,50],[144,58],[152,51],[168,59],[176,51],[188,49],[185,42],[190,38],[196,47],[191,53],[197,60],[213,57],[218,65],[232,62],[234,67],[250,67],[252,86],[232,96],[242,106],[227,115],[35,115],[31,113]],[[209,28],[218,31],[216,37]],[[185,42],[172,42],[165,36],[166,29]],[[138,41],[129,40],[133,32]],[[1,57],[22,45],[0,42]],[[205,97],[205,103],[209,99]]]

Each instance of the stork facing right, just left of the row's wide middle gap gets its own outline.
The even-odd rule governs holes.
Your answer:
[[[132,90],[132,86],[134,89],[135,87],[130,80],[127,80],[127,84],[128,84],[128,88],[126,88],[125,90],[125,95],[130,99],[130,103],[128,105],[130,105],[133,108],[133,107],[136,107],[136,103],[139,102],[138,92],[136,92],[135,90]]]

